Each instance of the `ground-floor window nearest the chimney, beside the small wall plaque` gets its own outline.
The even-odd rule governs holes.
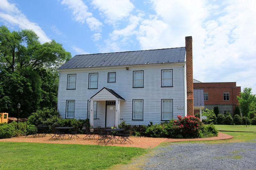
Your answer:
[[[172,119],[172,99],[162,99],[162,120]]]

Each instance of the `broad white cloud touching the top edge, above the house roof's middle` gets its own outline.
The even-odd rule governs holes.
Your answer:
[[[115,23],[128,17],[134,5],[129,0],[92,0],[92,5],[102,11],[107,17],[107,23]]]

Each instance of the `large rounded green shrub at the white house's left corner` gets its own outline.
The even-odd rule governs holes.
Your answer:
[[[52,125],[61,119],[59,112],[54,108],[45,107],[42,110],[37,110],[28,117],[28,124],[39,125]]]

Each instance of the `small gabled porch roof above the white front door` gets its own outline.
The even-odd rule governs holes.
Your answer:
[[[114,90],[107,87],[103,87],[99,92],[94,94],[91,97],[91,100],[100,101],[100,100],[123,100],[125,99],[117,94]]]

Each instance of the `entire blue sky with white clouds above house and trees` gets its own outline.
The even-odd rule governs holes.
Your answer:
[[[256,93],[256,1],[0,0],[0,25],[32,29],[41,43],[94,54],[185,46],[193,77],[237,82]]]

